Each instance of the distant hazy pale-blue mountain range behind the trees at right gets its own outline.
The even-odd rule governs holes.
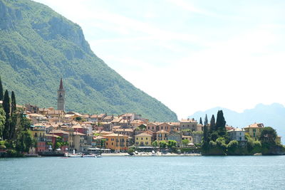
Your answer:
[[[223,107],[214,107],[204,112],[195,112],[190,118],[204,118],[206,114],[208,118],[211,118],[213,114],[217,117],[218,110],[223,110],[227,125],[246,127],[254,122],[262,122],[266,127],[273,127],[281,137],[285,137],[285,107],[279,103],[271,105],[259,104],[253,109],[244,110],[241,113]]]

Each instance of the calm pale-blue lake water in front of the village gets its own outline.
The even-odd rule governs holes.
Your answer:
[[[285,189],[285,156],[0,159],[0,189]]]

